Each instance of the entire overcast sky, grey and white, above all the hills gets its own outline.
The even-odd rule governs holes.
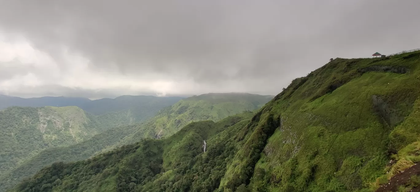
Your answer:
[[[0,0],[0,94],[276,95],[420,48],[420,0]]]

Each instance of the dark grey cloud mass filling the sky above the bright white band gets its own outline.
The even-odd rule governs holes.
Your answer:
[[[22,34],[58,64],[66,46],[93,71],[193,78],[213,92],[236,81],[240,91],[276,94],[331,57],[419,48],[419,7],[419,0],[2,0],[0,31]]]

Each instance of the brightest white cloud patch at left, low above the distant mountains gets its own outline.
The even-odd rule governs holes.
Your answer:
[[[2,72],[26,69],[24,74],[16,73],[0,79],[0,91],[18,92],[21,86],[57,85],[82,89],[126,88],[131,92],[149,91],[164,96],[173,92],[175,83],[170,80],[121,75],[116,70],[100,70],[89,67],[89,60],[67,48],[61,50],[60,65],[48,53],[33,47],[27,39],[0,38],[0,67]],[[156,74],[158,77],[159,75]]]

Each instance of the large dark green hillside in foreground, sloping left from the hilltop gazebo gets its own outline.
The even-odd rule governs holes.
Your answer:
[[[419,85],[420,52],[336,58],[218,134],[195,122],[164,140],[56,163],[15,191],[375,191],[420,161]]]

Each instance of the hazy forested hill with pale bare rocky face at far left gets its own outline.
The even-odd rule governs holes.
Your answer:
[[[47,148],[80,143],[130,121],[127,114],[93,116],[76,106],[9,107],[0,111],[0,172]]]

